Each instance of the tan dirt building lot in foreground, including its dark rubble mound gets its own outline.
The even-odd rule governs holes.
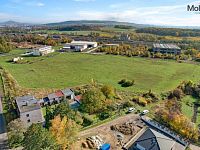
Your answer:
[[[115,128],[116,130],[114,130],[112,126],[117,127]],[[125,126],[130,127],[130,130],[127,130],[127,134],[125,134]],[[143,126],[144,124],[138,115],[129,114],[124,117],[119,117],[111,122],[80,132],[80,140],[77,141],[75,145],[77,149],[87,150],[89,148],[82,147],[82,144],[86,142],[86,138],[99,136],[102,138],[104,143],[109,143],[111,145],[111,149],[121,150],[122,146],[125,145],[134,135],[136,135],[143,128]]]

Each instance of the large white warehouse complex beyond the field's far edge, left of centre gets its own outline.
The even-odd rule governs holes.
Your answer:
[[[62,51],[76,51],[81,52],[87,48],[95,48],[97,47],[97,42],[89,42],[89,41],[72,41],[71,43],[67,43]]]

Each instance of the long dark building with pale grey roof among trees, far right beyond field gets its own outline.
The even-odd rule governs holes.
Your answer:
[[[153,44],[153,52],[178,55],[181,53],[181,48],[174,44]]]

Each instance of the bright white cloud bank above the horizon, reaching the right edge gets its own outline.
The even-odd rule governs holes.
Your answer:
[[[192,2],[192,4],[196,3]],[[111,5],[120,8],[125,4]],[[141,8],[128,8],[127,10],[104,11],[80,11],[80,19],[88,20],[115,20],[141,24],[175,25],[175,26],[199,26],[200,14],[187,12],[188,4],[174,6],[154,6]],[[122,7],[123,8],[123,7]]]

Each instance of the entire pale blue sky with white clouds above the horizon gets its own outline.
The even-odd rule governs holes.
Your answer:
[[[188,12],[191,0],[0,0],[0,22],[48,23],[113,20],[141,24],[199,26],[200,13]]]

